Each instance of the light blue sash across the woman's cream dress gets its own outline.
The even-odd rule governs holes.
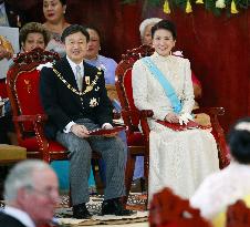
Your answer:
[[[175,93],[174,87],[168,82],[168,80],[164,76],[164,74],[159,71],[159,69],[155,65],[155,63],[150,60],[150,58],[146,56],[142,59],[143,62],[147,65],[148,70],[158,80],[160,85],[164,87],[165,94],[170,100],[171,106],[175,113],[179,113],[183,109],[183,105]]]

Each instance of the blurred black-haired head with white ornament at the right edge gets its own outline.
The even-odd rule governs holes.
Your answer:
[[[250,117],[237,121],[227,140],[232,158],[241,164],[250,164]]]

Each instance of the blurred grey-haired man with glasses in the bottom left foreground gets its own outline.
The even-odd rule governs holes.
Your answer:
[[[53,220],[59,203],[59,184],[49,164],[39,159],[17,164],[4,182],[6,207],[0,226],[39,227]]]

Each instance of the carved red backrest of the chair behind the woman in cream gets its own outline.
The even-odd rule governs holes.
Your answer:
[[[125,114],[122,111],[122,116],[125,124],[131,132],[137,131],[139,124],[139,112],[134,104],[132,90],[132,68],[136,60],[152,55],[154,49],[148,45],[140,45],[139,48],[128,50],[126,54],[122,55],[122,61],[116,68],[116,90],[118,99],[124,111],[129,111],[133,114]]]

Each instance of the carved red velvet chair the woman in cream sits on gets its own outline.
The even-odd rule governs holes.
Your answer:
[[[154,49],[147,45],[127,51],[123,54],[123,60],[116,68],[116,90],[118,93],[119,102],[122,105],[122,116],[125,125],[127,126],[126,136],[128,145],[128,155],[125,173],[126,195],[128,196],[133,173],[135,169],[136,156],[144,156],[144,171],[147,182],[148,177],[148,157],[149,157],[149,127],[147,124],[147,117],[153,116],[152,110],[138,111],[134,104],[133,91],[132,91],[132,68],[136,60],[150,55]],[[210,116],[212,134],[216,137],[219,148],[220,167],[223,168],[229,164],[228,151],[225,140],[223,130],[219,124],[218,115],[223,115],[223,107],[205,107],[197,109],[195,113],[207,113]],[[138,130],[140,123],[143,133]],[[127,198],[127,197],[126,197]],[[126,202],[125,198],[125,202]]]

